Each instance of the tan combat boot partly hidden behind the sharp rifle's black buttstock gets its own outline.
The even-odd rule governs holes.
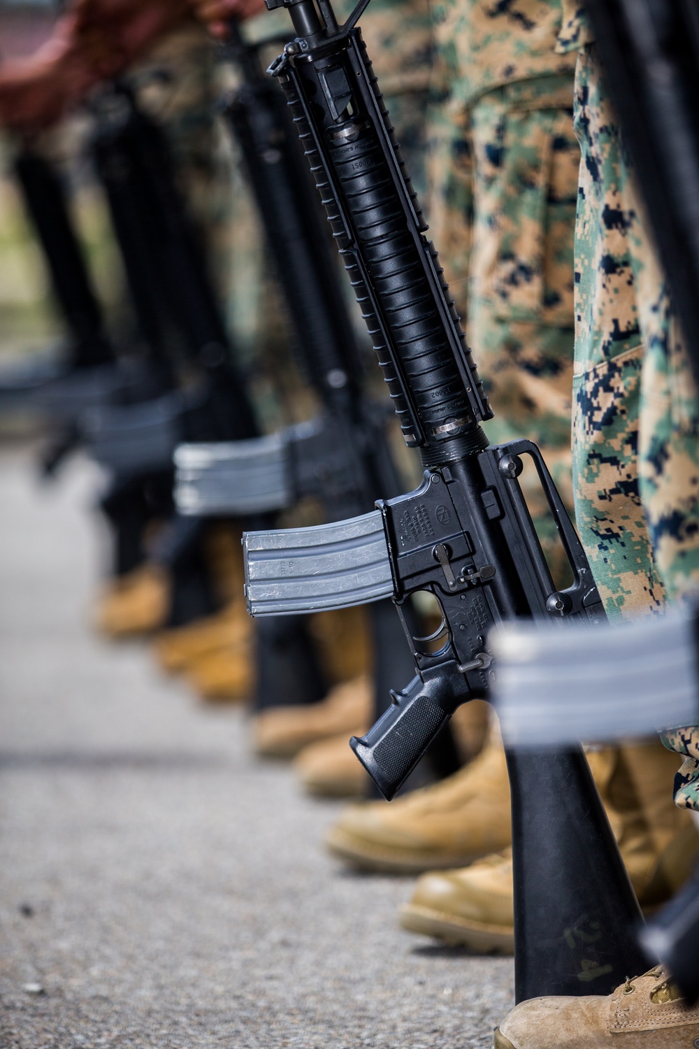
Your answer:
[[[672,800],[678,758],[656,740],[588,757],[638,902],[650,914],[699,859],[699,831]],[[400,924],[476,950],[511,954],[511,850],[464,870],[424,875],[401,908]]]

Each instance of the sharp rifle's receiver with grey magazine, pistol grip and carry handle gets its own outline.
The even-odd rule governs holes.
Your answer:
[[[520,487],[533,461],[573,574],[555,590]],[[361,740],[357,756],[391,797],[456,707],[487,695],[487,635],[518,617],[604,619],[599,595],[539,449],[528,441],[488,448],[462,464],[427,470],[414,492],[381,500],[363,517],[322,528],[243,537],[253,616],[313,612],[428,591],[442,612],[441,647],[412,639],[417,677]],[[405,624],[407,626],[407,624]],[[390,742],[391,741],[391,742]]]

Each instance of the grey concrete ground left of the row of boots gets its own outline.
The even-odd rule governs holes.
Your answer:
[[[96,490],[0,452],[0,1047],[492,1044],[510,961],[401,932],[244,711],[90,633]]]

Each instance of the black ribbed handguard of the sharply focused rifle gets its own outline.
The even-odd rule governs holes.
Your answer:
[[[425,227],[358,29],[350,34],[350,51],[351,62],[340,55],[336,61],[344,62],[352,98],[363,98],[368,108],[376,110],[369,120],[358,114],[346,125],[318,131],[311,116],[315,103],[302,98],[304,74],[290,69],[280,76],[280,83],[406,443],[434,447],[473,432],[492,411],[436,253],[422,237]],[[365,78],[356,76],[356,64],[364,66]],[[377,127],[386,129],[385,142]]]

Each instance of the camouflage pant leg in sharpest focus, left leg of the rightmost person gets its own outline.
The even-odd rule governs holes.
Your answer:
[[[575,517],[612,619],[661,609],[638,483],[643,361],[618,132],[594,57],[578,56],[574,127],[582,150],[575,228]]]

